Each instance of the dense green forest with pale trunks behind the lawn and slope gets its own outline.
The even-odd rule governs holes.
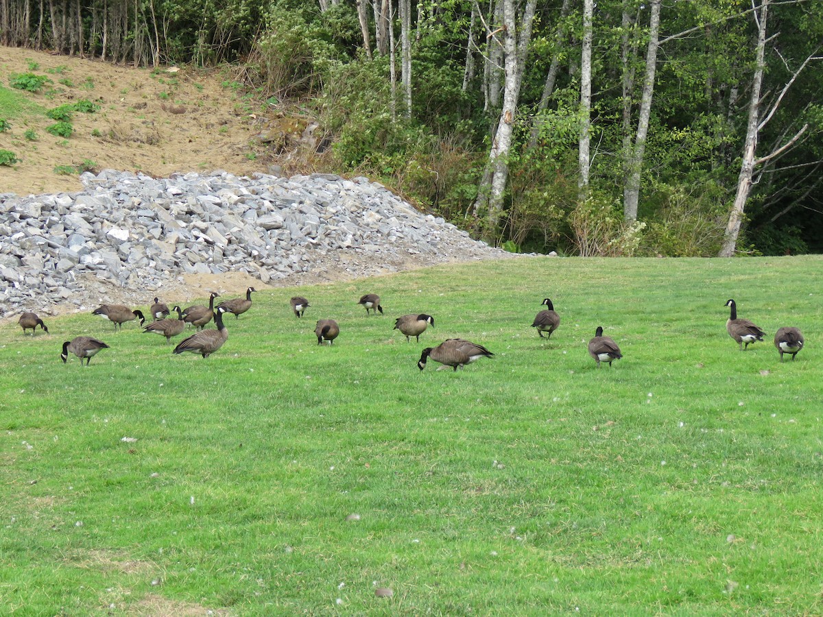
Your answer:
[[[0,0],[0,43],[230,63],[317,170],[509,250],[823,250],[823,2]]]

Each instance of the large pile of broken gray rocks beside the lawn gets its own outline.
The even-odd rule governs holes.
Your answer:
[[[286,285],[506,254],[365,178],[106,169],[81,182],[79,193],[0,195],[0,317],[85,308],[107,288],[145,302],[187,273]]]

